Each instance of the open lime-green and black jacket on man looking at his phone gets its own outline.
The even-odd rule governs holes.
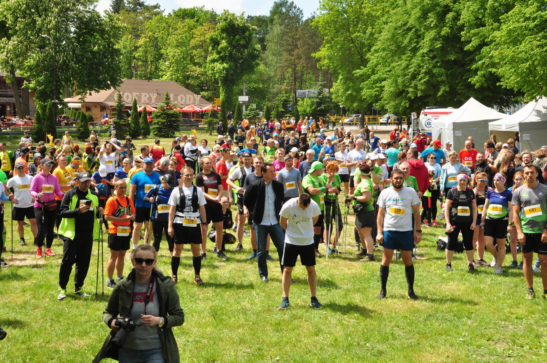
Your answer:
[[[75,187],[65,193],[59,211],[62,218],[61,225],[59,226],[59,235],[70,239],[74,239],[76,234],[75,218],[79,215],[78,208],[80,203],[78,201],[77,191],[78,187]],[[86,198],[93,202],[93,208],[95,211],[96,218],[94,219],[93,224],[93,239],[99,239],[99,198],[95,192],[91,192],[90,189],[88,189],[88,195],[86,195]]]

